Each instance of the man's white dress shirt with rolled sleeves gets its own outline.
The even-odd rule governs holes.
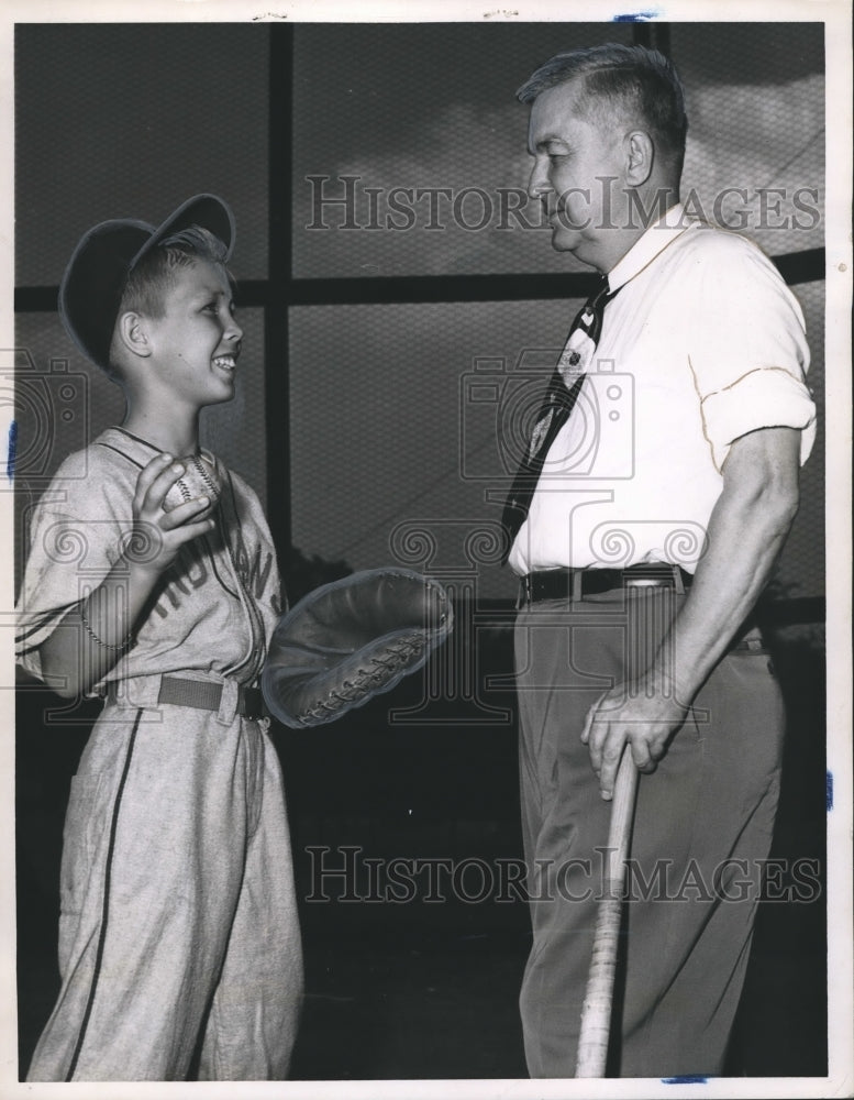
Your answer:
[[[672,207],[609,273],[595,358],[510,552],[514,572],[694,572],[730,446],[757,428],[816,437],[803,315],[750,241]]]

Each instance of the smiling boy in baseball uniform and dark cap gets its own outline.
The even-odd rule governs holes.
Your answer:
[[[255,686],[279,579],[257,497],[198,438],[240,370],[233,235],[210,195],[158,229],[104,222],[60,287],[126,414],[59,468],[19,601],[25,668],[65,697],[104,695],[71,785],[62,989],[34,1081],[287,1075],[302,961]]]

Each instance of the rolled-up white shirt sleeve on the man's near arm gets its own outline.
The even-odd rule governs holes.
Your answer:
[[[691,271],[689,362],[703,432],[720,471],[732,443],[759,428],[801,433],[803,463],[816,440],[807,386],[809,348],[797,299],[770,261],[743,238],[721,234]]]

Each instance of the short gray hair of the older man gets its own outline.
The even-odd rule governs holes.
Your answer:
[[[685,94],[672,63],[657,50],[601,46],[556,54],[522,85],[517,98],[532,103],[548,88],[579,78],[578,110],[584,117],[614,114],[636,120],[656,147],[681,172],[688,120]]]

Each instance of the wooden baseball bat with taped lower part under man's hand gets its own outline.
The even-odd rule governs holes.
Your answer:
[[[629,856],[636,791],[637,769],[634,767],[631,748],[626,745],[613,788],[608,858],[605,865],[602,897],[596,917],[594,954],[581,1009],[576,1077],[605,1077],[608,1038],[611,1031],[617,950],[620,942],[625,860]]]

